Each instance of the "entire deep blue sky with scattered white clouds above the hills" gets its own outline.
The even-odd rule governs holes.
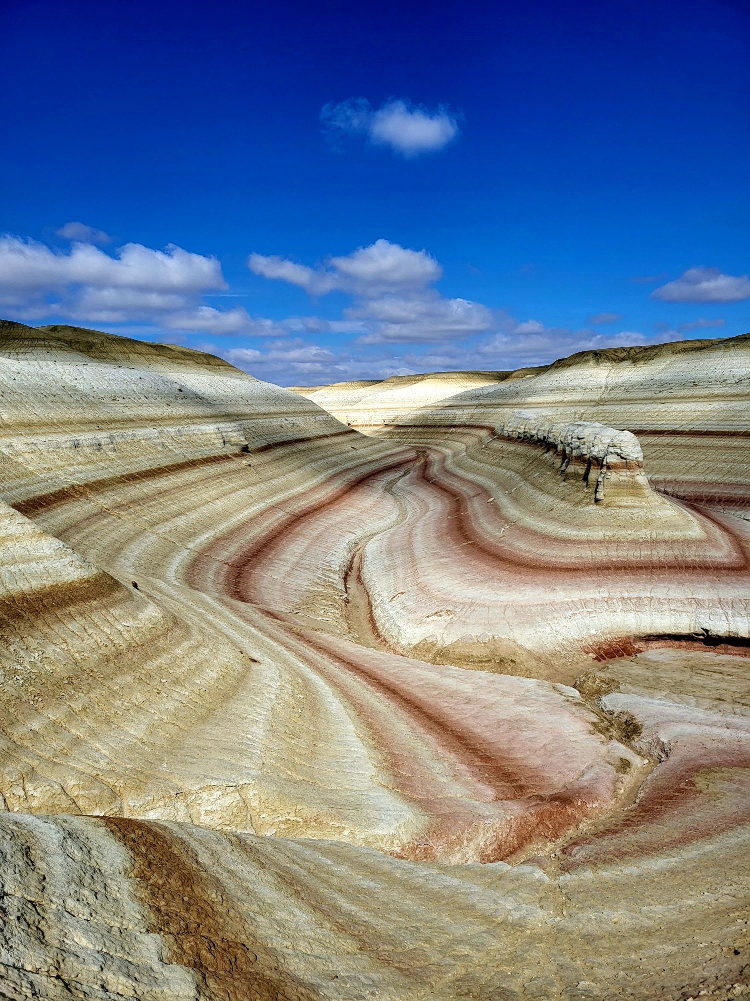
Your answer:
[[[23,3],[0,313],[282,384],[750,329],[750,7]]]

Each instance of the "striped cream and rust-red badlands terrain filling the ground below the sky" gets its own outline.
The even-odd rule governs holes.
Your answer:
[[[0,997],[747,996],[749,376],[0,323]]]

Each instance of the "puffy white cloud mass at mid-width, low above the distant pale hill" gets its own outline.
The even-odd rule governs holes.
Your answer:
[[[354,297],[344,319],[326,321],[337,332],[360,332],[360,343],[418,343],[467,337],[484,332],[494,320],[478,302],[444,298],[432,287],[443,273],[426,250],[411,250],[378,239],[345,256],[329,257],[318,268],[284,257],[253,253],[248,266],[256,274],[280,278],[311,295],[338,290]],[[300,321],[309,329],[309,318]]]

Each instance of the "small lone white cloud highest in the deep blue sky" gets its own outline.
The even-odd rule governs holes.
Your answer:
[[[456,115],[442,105],[431,111],[393,98],[377,109],[363,97],[326,104],[320,117],[333,133],[364,135],[406,157],[443,149],[459,134]]]

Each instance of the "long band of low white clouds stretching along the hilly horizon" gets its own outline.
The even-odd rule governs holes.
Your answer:
[[[315,264],[254,252],[247,265],[263,279],[302,289],[315,307],[330,296],[327,314],[311,308],[269,319],[240,304],[217,308],[208,300],[223,298],[227,289],[219,260],[174,244],[154,249],[127,243],[110,251],[72,240],[63,251],[9,234],[0,236],[0,306],[7,315],[32,322],[64,318],[188,343],[282,385],[440,369],[513,369],[576,351],[674,340],[725,324],[693,316],[677,325],[656,323],[651,334],[616,327],[602,333],[601,324],[614,325],[622,317],[601,312],[580,329],[550,326],[443,295],[438,284],[443,268],[432,254],[382,238]],[[716,268],[692,268],[657,289],[656,297],[733,301],[750,297],[749,283],[746,276]]]

